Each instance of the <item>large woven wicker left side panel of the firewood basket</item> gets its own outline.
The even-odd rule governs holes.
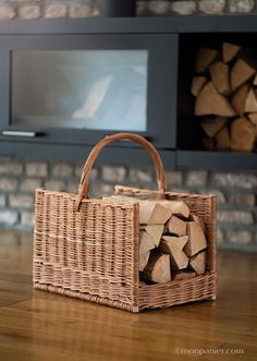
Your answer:
[[[68,193],[36,192],[34,284],[134,306],[138,205],[87,200],[75,212],[75,200]]]

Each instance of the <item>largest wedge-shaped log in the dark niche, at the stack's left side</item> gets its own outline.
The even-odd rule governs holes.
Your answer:
[[[195,101],[196,116],[234,117],[235,111],[229,100],[219,94],[211,82],[207,83]]]

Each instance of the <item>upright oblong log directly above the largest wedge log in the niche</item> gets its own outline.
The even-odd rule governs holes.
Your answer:
[[[209,68],[210,77],[215,87],[223,95],[231,93],[229,71],[229,67],[222,61],[217,61]]]

